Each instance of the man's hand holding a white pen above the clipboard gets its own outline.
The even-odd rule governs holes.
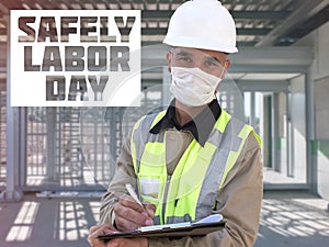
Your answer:
[[[156,206],[150,203],[143,203],[143,205],[144,207],[129,195],[120,198],[113,207],[116,227],[120,231],[128,231],[154,225]]]

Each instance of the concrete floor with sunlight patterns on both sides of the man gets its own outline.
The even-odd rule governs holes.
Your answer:
[[[88,247],[98,198],[37,198],[0,203],[0,247]],[[328,247],[328,202],[302,192],[265,192],[254,247]]]

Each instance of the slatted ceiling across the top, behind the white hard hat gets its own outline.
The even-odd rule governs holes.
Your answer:
[[[0,41],[4,42],[3,20],[13,9],[139,9],[143,10],[143,42],[158,44],[168,20],[182,0],[2,0]],[[239,46],[287,46],[329,20],[328,0],[222,0],[234,15]]]

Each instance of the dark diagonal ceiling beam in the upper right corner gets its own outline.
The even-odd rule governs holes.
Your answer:
[[[302,1],[297,10],[291,13],[279,26],[272,30],[264,38],[262,38],[256,46],[271,46],[274,45],[279,38],[287,32],[296,29],[299,24],[310,19],[329,4],[329,0],[311,0]]]

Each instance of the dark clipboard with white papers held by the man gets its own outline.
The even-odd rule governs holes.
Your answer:
[[[191,223],[175,223],[166,225],[145,226],[134,231],[113,232],[111,234],[100,235],[101,240],[111,240],[116,237],[182,237],[182,236],[202,236],[224,228],[225,221],[222,214],[213,214],[201,221]]]

